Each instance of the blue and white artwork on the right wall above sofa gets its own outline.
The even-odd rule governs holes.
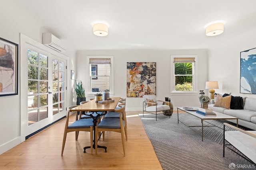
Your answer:
[[[240,93],[256,94],[256,48],[240,52]]]

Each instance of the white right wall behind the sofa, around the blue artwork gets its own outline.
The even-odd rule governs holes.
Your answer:
[[[218,81],[217,93],[231,92],[233,96],[256,98],[255,94],[240,93],[240,52],[256,47],[255,35],[256,30],[249,28],[209,50],[208,76],[209,81]]]

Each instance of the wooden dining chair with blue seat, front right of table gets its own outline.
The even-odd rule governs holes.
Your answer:
[[[113,132],[121,133],[123,152],[125,156],[125,143],[124,143],[125,142],[124,127],[126,124],[124,120],[125,106],[123,106],[118,113],[119,113],[119,119],[114,119],[114,118],[102,119],[102,121],[95,127],[95,134],[98,135],[98,132],[105,132],[105,131],[113,131]],[[95,154],[97,154],[97,148],[98,148],[97,139],[98,137],[95,138]]]

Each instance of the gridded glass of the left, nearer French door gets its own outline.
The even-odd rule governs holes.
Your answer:
[[[48,57],[28,49],[28,125],[48,117]]]

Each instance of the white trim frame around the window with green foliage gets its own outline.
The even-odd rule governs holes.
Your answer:
[[[192,80],[192,84],[193,84],[193,90],[192,91],[176,91],[175,90],[175,67],[174,67],[174,58],[194,58],[195,62],[192,64],[193,69],[192,69],[192,76],[193,76],[193,80]],[[197,74],[197,55],[171,55],[171,59],[170,59],[170,89],[171,89],[171,94],[197,94],[198,91],[198,74]]]

